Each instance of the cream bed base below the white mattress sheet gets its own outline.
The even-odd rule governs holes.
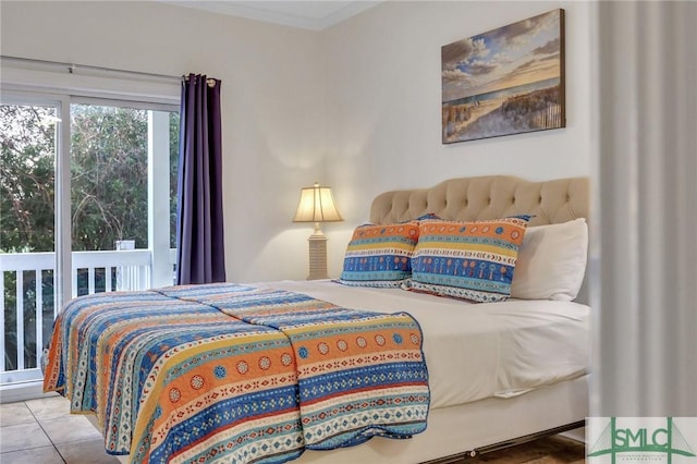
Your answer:
[[[428,428],[409,440],[374,438],[358,447],[306,451],[292,463],[423,463],[512,440],[588,416],[588,376],[510,399],[490,398],[431,410]],[[95,416],[87,416],[97,427]],[[127,463],[127,456],[119,456]]]

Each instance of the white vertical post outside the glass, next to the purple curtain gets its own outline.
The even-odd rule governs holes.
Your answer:
[[[172,284],[169,118],[167,111],[148,112],[148,244],[152,288]]]

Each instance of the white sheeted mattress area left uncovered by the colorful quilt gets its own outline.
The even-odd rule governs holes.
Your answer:
[[[328,280],[255,285],[304,293],[355,309],[414,316],[424,332],[431,408],[516,396],[588,371],[589,308],[578,303],[510,300],[472,304]]]

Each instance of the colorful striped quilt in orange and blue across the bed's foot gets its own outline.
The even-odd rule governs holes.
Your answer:
[[[135,463],[280,463],[426,429],[407,314],[221,283],[101,293],[54,322],[45,391],[94,413]]]

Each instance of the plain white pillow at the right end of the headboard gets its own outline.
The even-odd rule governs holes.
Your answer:
[[[583,218],[527,228],[513,271],[511,297],[572,301],[584,281],[588,225]]]

